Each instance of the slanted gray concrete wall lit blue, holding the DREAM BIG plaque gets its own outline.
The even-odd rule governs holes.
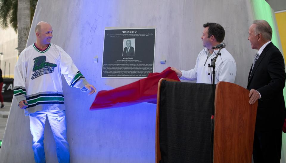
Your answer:
[[[192,69],[203,48],[202,25],[217,22],[225,27],[226,49],[237,63],[235,83],[246,87],[256,52],[247,40],[253,15],[248,0],[39,0],[27,45],[35,42],[34,28],[39,21],[51,23],[52,42],[74,59],[98,91],[109,90],[138,79],[100,78],[105,27],[156,27],[154,71],[161,72],[169,66]],[[97,64],[93,63],[95,56],[99,57]],[[160,64],[162,59],[166,59],[165,65]],[[154,162],[154,104],[89,111],[95,95],[87,96],[65,82],[63,90],[71,162]],[[56,162],[55,142],[48,123],[44,143],[46,161]],[[29,117],[13,101],[0,162],[32,162],[31,145]]]

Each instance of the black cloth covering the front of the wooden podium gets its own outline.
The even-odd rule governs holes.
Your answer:
[[[163,81],[160,91],[161,162],[210,162],[212,85]]]

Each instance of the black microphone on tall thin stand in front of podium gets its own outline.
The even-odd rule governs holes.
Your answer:
[[[223,47],[220,47],[220,50]],[[211,60],[212,63],[209,64],[209,68],[212,68],[212,117],[211,117],[211,139],[210,139],[210,146],[211,146],[211,160],[210,162],[213,162],[213,144],[214,144],[214,129],[215,129],[215,62],[217,61],[217,57],[221,55],[220,50],[217,52],[216,56]]]

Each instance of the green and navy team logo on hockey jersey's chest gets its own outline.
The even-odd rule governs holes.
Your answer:
[[[33,74],[31,79],[35,79],[36,77],[39,77],[46,73],[52,73],[54,72],[54,68],[57,67],[57,65],[54,63],[46,62],[46,56],[36,57],[34,58],[34,60],[35,64],[33,67],[33,71],[35,71],[35,73]]]

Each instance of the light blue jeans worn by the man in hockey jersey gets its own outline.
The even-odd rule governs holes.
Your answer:
[[[29,114],[35,162],[46,162],[43,143],[46,116],[48,116],[56,142],[57,159],[59,162],[69,162],[69,143],[66,139],[66,112],[64,110],[40,111]]]

